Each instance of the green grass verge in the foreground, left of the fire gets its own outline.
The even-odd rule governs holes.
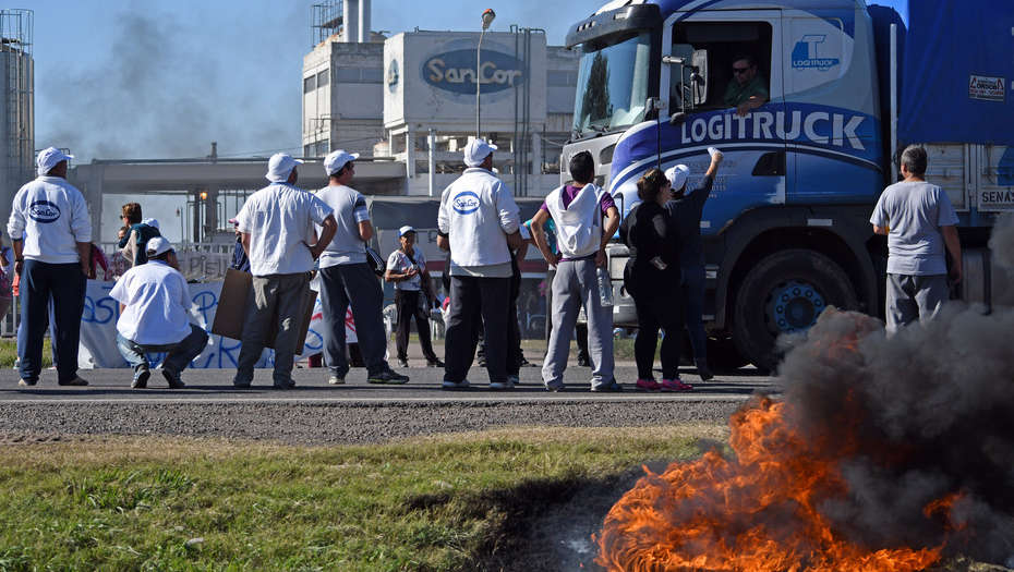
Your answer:
[[[582,483],[724,437],[709,425],[333,448],[0,445],[0,570],[483,570]]]

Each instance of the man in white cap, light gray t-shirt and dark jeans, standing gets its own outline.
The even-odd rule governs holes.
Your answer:
[[[366,364],[366,381],[371,384],[405,384],[409,380],[387,365],[387,330],[384,329],[384,291],[366,264],[366,241],[373,238],[373,224],[366,198],[349,186],[355,177],[359,154],[341,149],[324,158],[327,186],[317,197],[335,210],[338,231],[328,239],[321,255],[321,305],[324,309],[324,361],[327,382],[345,384],[349,373],[346,358],[345,315],[352,306],[355,337]]]

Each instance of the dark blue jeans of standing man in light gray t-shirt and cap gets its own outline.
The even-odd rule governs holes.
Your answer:
[[[339,264],[321,269],[321,306],[324,311],[324,362],[331,374],[345,377],[345,315],[352,306],[355,339],[366,363],[366,374],[388,368],[387,331],[384,329],[384,291],[366,263]]]

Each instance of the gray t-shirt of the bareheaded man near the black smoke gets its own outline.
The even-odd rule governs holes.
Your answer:
[[[901,182],[884,188],[870,223],[886,227],[888,273],[947,273],[940,227],[957,224],[947,194],[925,182]]]

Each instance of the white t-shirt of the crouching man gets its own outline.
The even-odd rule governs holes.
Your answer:
[[[191,306],[186,279],[161,260],[148,260],[126,271],[109,291],[124,304],[117,320],[120,336],[140,345],[167,345],[190,336]]]

